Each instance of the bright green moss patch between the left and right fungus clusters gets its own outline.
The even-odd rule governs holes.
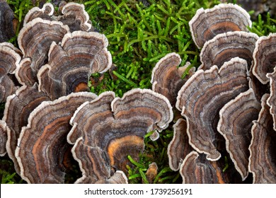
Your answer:
[[[113,75],[119,82],[112,84],[112,75],[92,91],[100,93],[110,84],[116,95],[132,88],[151,88],[151,70],[156,62],[169,52],[178,52],[183,58],[194,60],[199,66],[199,51],[190,35],[188,21],[198,8],[209,8],[219,1],[86,1],[86,11],[100,33],[109,40]],[[113,82],[114,83],[114,82]]]

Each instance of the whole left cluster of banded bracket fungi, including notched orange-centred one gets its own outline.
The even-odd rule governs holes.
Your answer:
[[[76,183],[127,183],[127,156],[138,160],[144,135],[158,139],[173,120],[169,100],[149,89],[88,92],[89,76],[112,65],[107,38],[92,30],[84,5],[61,4],[57,14],[45,4],[25,16],[19,49],[0,45],[0,155],[28,183],[63,183],[76,164]]]

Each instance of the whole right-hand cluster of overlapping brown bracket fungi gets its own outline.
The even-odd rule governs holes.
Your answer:
[[[268,132],[276,128],[272,123],[276,123],[276,70],[271,73],[276,66],[275,34],[248,33],[251,24],[248,13],[237,5],[201,8],[189,22],[192,39],[202,48],[201,66],[192,69],[184,81],[177,68],[180,57],[168,54],[153,70],[153,89],[176,101],[183,116],[173,125],[168,158],[171,169],[179,170],[185,183],[243,182],[249,173],[253,180],[251,176],[247,182],[276,180],[275,146],[271,144],[275,134]],[[263,115],[265,93],[270,94],[270,116]],[[262,131],[263,137],[257,135]],[[230,164],[226,171],[224,159]],[[231,175],[240,175],[240,179],[233,180]]]

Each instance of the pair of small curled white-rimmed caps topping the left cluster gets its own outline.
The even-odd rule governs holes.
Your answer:
[[[54,13],[54,6],[50,3],[44,4],[42,8],[34,7],[26,14],[24,25],[35,18],[42,18],[49,21],[60,21],[64,25],[68,25],[71,32],[91,30],[91,21],[83,4],[74,2],[65,5],[59,4],[59,12],[59,14]]]

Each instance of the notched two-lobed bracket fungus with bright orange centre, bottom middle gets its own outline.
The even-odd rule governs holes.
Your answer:
[[[172,119],[171,104],[159,93],[135,88],[115,98],[115,93],[105,92],[78,108],[67,141],[74,144],[82,137],[84,144],[106,153],[110,167],[127,174],[126,165],[132,166],[127,156],[139,160],[144,135],[165,129]]]

